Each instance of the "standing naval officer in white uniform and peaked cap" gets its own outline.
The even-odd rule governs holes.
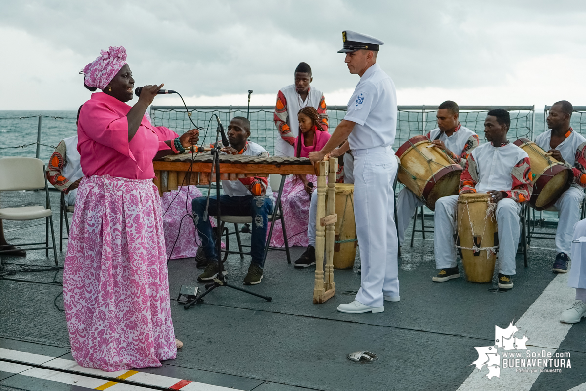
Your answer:
[[[383,312],[383,300],[399,301],[397,232],[393,220],[393,180],[397,160],[391,145],[395,139],[397,99],[393,80],[383,72],[376,57],[383,41],[350,30],[342,32],[345,63],[360,81],[348,101],[348,110],[321,151],[340,156],[352,149],[354,157],[354,215],[362,261],[362,282],[354,301],[340,312]],[[342,147],[336,148],[345,139]]]

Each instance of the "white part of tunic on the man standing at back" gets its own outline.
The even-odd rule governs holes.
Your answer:
[[[297,114],[299,110],[304,107],[311,106],[318,110],[319,102],[322,100],[322,91],[309,87],[309,93],[304,101],[301,100],[301,96],[297,92],[295,84],[289,84],[287,87],[281,89],[285,100],[287,100],[287,125],[291,129],[291,137],[297,137],[299,135],[299,120]],[[277,132],[278,134],[278,132]],[[295,156],[295,147],[289,145],[289,143],[278,135],[275,140],[275,156]]]

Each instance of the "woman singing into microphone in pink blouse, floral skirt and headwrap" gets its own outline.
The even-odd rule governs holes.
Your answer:
[[[191,130],[159,140],[145,118],[161,86],[143,87],[134,106],[134,79],[124,47],[87,64],[94,93],[77,126],[84,178],[63,271],[63,297],[73,358],[108,372],[161,366],[177,355],[169,299],[161,199],[152,160],[197,143]]]

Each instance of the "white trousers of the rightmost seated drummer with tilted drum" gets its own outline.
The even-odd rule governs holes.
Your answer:
[[[572,234],[574,233],[574,226],[580,221],[582,198],[584,198],[582,189],[571,186],[554,203],[554,208],[558,210],[556,254],[566,253],[571,257]]]

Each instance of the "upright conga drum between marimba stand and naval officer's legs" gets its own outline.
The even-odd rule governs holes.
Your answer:
[[[352,183],[336,183],[336,213],[338,221],[334,225],[333,268],[347,269],[354,266],[358,244]]]

